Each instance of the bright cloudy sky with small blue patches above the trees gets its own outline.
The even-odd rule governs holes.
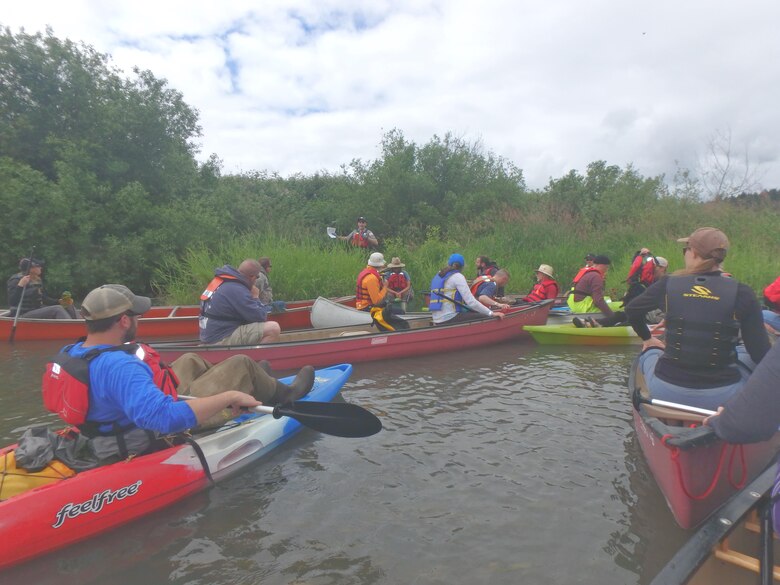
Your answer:
[[[594,160],[696,169],[712,137],[780,187],[775,0],[6,0],[0,24],[150,69],[225,172],[338,171],[447,132],[531,187]]]

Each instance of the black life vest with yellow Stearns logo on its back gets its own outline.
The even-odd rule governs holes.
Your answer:
[[[722,276],[672,276],[666,284],[664,357],[692,367],[737,362],[739,283]]]

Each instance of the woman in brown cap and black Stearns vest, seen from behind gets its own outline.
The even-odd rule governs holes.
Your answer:
[[[705,227],[677,241],[685,268],[652,284],[625,311],[643,340],[639,367],[651,396],[716,410],[744,385],[769,339],[756,295],[720,270],[726,235]],[[654,309],[666,312],[665,343],[645,323]]]

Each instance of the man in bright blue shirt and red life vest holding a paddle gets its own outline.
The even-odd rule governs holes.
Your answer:
[[[287,386],[246,356],[236,356],[241,359],[230,365],[229,360],[213,367],[200,364],[195,375],[190,364],[199,358],[194,354],[176,360],[171,368],[180,380],[166,382],[165,374],[156,376],[170,372],[159,355],[149,354],[148,346],[130,343],[138,317],[150,307],[148,297],[135,295],[123,285],[94,289],[81,307],[86,338],[63,348],[43,375],[44,405],[79,427],[101,464],[148,451],[157,434],[213,424],[215,419],[222,422],[226,409],[235,415],[262,403],[297,400],[314,383],[311,366],[302,368]],[[245,371],[238,371],[242,368]],[[176,382],[180,382],[178,389]],[[231,386],[236,389],[224,390]],[[196,398],[178,401],[177,392]]]

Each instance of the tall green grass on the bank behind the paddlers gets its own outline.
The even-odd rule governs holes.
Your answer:
[[[588,252],[606,254],[612,260],[607,291],[613,297],[625,292],[625,277],[634,253],[641,247],[669,260],[669,271],[683,267],[682,245],[676,239],[702,226],[722,229],[731,241],[725,268],[761,295],[780,274],[777,213],[735,209],[734,206],[689,205],[671,200],[624,221],[589,226],[576,218],[539,208],[524,215],[509,213],[475,235],[450,229],[448,238],[432,228],[422,243],[388,239],[381,251],[389,262],[398,256],[406,264],[418,293],[428,290],[433,275],[453,252],[466,259],[464,273],[475,275],[474,259],[487,255],[509,270],[507,292],[525,293],[534,283],[539,264],[553,266],[561,290],[566,290]],[[378,234],[381,238],[381,234]],[[355,280],[366,266],[370,251],[351,248],[340,240],[296,236],[245,235],[225,241],[216,249],[191,248],[179,260],[165,263],[156,273],[155,286],[172,304],[194,304],[223,264],[268,256],[273,268],[270,281],[274,298],[300,300],[334,297],[355,292]],[[414,306],[419,306],[420,294]],[[413,308],[414,308],[413,306]]]

